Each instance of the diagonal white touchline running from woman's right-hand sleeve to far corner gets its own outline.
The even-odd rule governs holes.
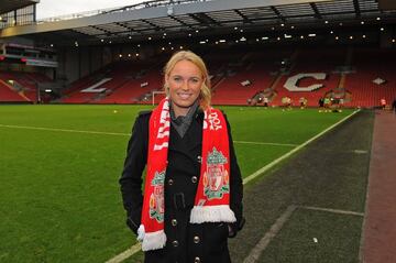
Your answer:
[[[323,135],[324,133],[327,133],[328,131],[330,131],[331,129],[336,128],[337,125],[339,125],[340,123],[344,122],[345,120],[348,120],[349,118],[351,118],[352,116],[354,116],[355,113],[358,113],[360,110],[356,110],[354,112],[352,112],[351,114],[346,116],[345,118],[343,118],[342,120],[338,121],[337,123],[332,124],[331,127],[324,129],[322,132],[316,134],[315,136],[312,136],[311,139],[309,139],[308,141],[304,142],[302,144],[298,145],[297,147],[293,149],[290,152],[287,152],[286,154],[282,155],[280,157],[274,160],[273,162],[271,162],[270,164],[265,165],[264,167],[257,169],[256,172],[254,172],[253,174],[251,174],[250,176],[248,176],[246,178],[243,179],[243,184],[248,184],[249,182],[251,182],[252,179],[256,178],[257,176],[260,176],[261,174],[263,174],[264,172],[268,171],[270,168],[272,168],[273,166],[275,166],[276,164],[280,163],[283,160],[287,158],[288,156],[290,156],[292,154],[294,154],[295,152],[299,151],[301,147],[305,147],[306,145],[308,145],[309,143],[311,143],[312,141],[315,141],[316,139],[320,138],[321,135]]]

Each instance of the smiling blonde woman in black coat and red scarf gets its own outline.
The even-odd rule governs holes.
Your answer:
[[[164,73],[167,97],[140,113],[128,145],[120,179],[127,223],[145,262],[231,262],[227,240],[243,226],[243,189],[229,123],[210,107],[199,56],[178,52]]]

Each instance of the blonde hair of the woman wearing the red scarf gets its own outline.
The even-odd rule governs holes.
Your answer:
[[[199,102],[200,102],[200,107],[204,110],[208,109],[210,107],[210,100],[211,100],[210,79],[209,79],[208,69],[207,69],[202,58],[190,51],[177,52],[166,63],[166,65],[164,67],[164,77],[165,77],[164,90],[166,92],[166,96],[169,96],[169,90],[168,90],[168,87],[166,86],[166,78],[169,76],[169,74],[170,74],[172,69],[175,67],[176,63],[182,62],[182,61],[191,62],[201,72],[202,78],[205,79],[205,81],[202,83],[202,86],[200,88]]]

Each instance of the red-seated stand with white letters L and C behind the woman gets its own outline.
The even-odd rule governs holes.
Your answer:
[[[352,62],[351,56],[355,57]],[[117,62],[70,85],[59,100],[63,103],[152,103],[152,91],[162,89],[160,62]],[[378,57],[382,63],[378,62]],[[396,96],[393,68],[395,54],[378,48],[275,48],[207,53],[205,59],[211,74],[213,105],[256,105],[263,97],[271,106],[282,106],[288,97],[299,106],[301,97],[308,107],[317,107],[322,97],[343,99],[345,107],[374,107],[381,98]],[[353,63],[353,65],[349,65]],[[299,79],[296,90],[286,89],[287,80],[297,74],[323,73],[322,80]],[[101,85],[103,79],[110,79]],[[373,83],[384,79],[383,84]],[[380,81],[380,80],[378,80]],[[311,91],[298,88],[321,84]],[[100,92],[85,92],[95,87]],[[257,99],[257,95],[260,95]],[[162,97],[157,95],[155,101]]]

